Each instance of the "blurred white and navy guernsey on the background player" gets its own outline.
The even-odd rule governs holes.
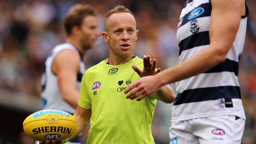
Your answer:
[[[85,72],[85,64],[83,63],[82,54],[76,49],[74,45],[71,43],[65,42],[63,44],[58,44],[55,46],[52,51],[51,55],[45,61],[45,72],[42,77],[41,85],[42,85],[42,92],[41,97],[43,101],[43,109],[58,109],[61,111],[65,111],[71,114],[76,112],[76,109],[71,107],[69,103],[63,100],[61,96],[61,92],[59,90],[58,79],[56,74],[52,71],[52,63],[56,55],[63,50],[73,50],[77,54],[80,55],[80,72],[77,74],[77,85],[76,89],[80,91],[81,81],[83,77],[83,73]]]

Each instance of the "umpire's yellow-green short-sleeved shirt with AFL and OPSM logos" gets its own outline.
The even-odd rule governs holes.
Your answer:
[[[142,69],[143,59],[134,57],[122,65],[101,61],[84,73],[78,105],[92,110],[87,144],[154,144],[154,94],[141,101],[126,99],[124,94],[140,78],[132,65]]]

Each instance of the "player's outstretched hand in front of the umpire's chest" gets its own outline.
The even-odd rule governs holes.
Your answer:
[[[158,85],[158,81],[155,77],[156,76],[145,76],[131,83],[128,88],[124,90],[125,94],[130,91],[126,98],[137,98],[137,101],[140,101],[146,96],[156,92],[160,86]]]

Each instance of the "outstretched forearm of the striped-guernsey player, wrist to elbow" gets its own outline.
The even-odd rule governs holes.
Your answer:
[[[159,81],[157,84],[161,87],[206,72],[224,62],[225,56],[226,54],[218,52],[215,48],[208,47],[186,61],[156,74],[156,79]]]

